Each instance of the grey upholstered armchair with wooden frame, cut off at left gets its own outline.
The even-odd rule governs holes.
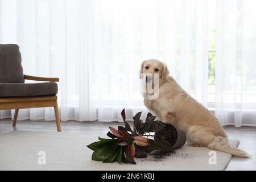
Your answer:
[[[0,110],[15,109],[13,126],[19,109],[33,107],[54,107],[57,131],[61,131],[57,106],[59,78],[45,78],[23,75],[19,46],[0,44]],[[26,84],[25,80],[47,81]]]

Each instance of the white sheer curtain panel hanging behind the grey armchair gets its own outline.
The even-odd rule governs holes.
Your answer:
[[[92,3],[0,1],[0,41],[19,44],[24,73],[60,77],[62,121],[97,119],[92,84],[95,55]],[[52,108],[24,109],[18,119],[53,120],[54,114]]]

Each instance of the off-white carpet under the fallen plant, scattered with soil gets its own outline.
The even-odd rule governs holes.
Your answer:
[[[209,164],[209,151],[204,147],[185,145],[166,159],[135,159],[134,164],[101,163],[91,160],[92,150],[86,145],[105,134],[19,132],[0,135],[0,170],[224,170],[231,155],[217,153],[217,164]],[[230,140],[238,147],[239,140]],[[38,164],[38,152],[46,152],[46,165]]]

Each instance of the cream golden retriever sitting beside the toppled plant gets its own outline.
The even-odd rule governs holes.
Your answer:
[[[158,73],[158,74],[157,74]],[[157,75],[157,76],[156,76]],[[158,81],[158,98],[150,99],[151,92],[143,93],[144,104],[163,122],[171,122],[187,134],[187,142],[193,146],[208,147],[241,158],[249,155],[231,147],[218,119],[207,108],[193,99],[173,77],[166,64],[159,60],[145,60],[141,65],[140,78],[155,90]]]

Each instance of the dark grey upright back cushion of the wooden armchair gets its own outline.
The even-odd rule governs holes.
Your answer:
[[[0,83],[24,83],[19,46],[0,44]]]

